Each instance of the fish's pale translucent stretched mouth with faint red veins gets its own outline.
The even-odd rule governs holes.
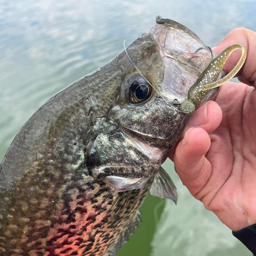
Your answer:
[[[193,31],[174,20],[157,16],[156,23],[151,33],[165,65],[169,60],[178,62],[182,69],[198,77],[211,61],[210,49]]]

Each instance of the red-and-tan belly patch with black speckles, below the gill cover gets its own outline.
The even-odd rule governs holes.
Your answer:
[[[102,187],[100,182],[92,180],[90,184],[93,188],[84,186],[85,195],[79,194],[78,189],[74,193],[73,187],[79,188],[77,182],[63,193],[52,217],[45,255],[105,255],[106,251],[110,252],[131,221],[137,221],[137,210],[150,187],[113,193],[112,188]],[[112,211],[114,201],[117,202]],[[65,207],[67,204],[70,207]]]

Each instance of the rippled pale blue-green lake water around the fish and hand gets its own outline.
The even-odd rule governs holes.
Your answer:
[[[160,14],[215,46],[230,30],[256,25],[255,0],[0,0],[0,160],[29,117],[54,93],[123,50]],[[178,205],[149,196],[140,228],[118,256],[251,255],[182,186]],[[156,225],[157,224],[157,225]]]

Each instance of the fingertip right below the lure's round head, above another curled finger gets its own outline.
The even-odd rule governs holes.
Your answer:
[[[188,123],[180,136],[176,146],[169,153],[169,158],[173,160],[174,153],[178,143],[184,138],[185,133],[191,127],[200,127],[207,133],[213,132],[220,125],[222,120],[222,110],[220,106],[214,101],[207,101],[200,108],[198,108],[188,120]]]

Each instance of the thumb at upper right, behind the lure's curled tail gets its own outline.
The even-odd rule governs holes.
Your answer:
[[[256,33],[245,28],[237,28],[232,30],[223,41],[221,41],[217,47],[212,48],[217,54],[220,54],[227,47],[240,44],[245,47],[247,51],[247,58],[245,60],[244,66],[239,71],[237,76],[238,79],[246,83],[248,86],[256,87]],[[236,66],[238,60],[240,59],[241,51],[234,51],[228,58],[224,70],[229,73],[234,66]]]

